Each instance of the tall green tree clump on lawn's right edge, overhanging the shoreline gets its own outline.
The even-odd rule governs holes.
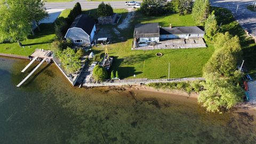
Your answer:
[[[242,101],[242,73],[236,69],[241,59],[241,45],[237,36],[229,33],[217,34],[215,52],[203,69],[206,80],[205,90],[200,93],[198,102],[202,102],[208,111],[230,109]]]

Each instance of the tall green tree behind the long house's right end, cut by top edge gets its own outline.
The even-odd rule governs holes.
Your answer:
[[[192,15],[197,25],[204,26],[204,22],[210,14],[209,0],[196,0],[192,9]]]

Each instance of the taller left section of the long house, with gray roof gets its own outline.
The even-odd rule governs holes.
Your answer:
[[[135,25],[134,38],[139,43],[159,42],[159,25],[157,23],[146,23]]]

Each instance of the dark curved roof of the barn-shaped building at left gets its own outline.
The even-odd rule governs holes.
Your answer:
[[[69,28],[82,28],[88,35],[91,34],[95,21],[86,14],[77,15]]]

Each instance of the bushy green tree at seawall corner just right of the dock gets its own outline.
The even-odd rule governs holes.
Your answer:
[[[58,52],[57,55],[61,61],[62,67],[65,68],[68,73],[75,73],[79,68],[81,68],[79,55],[70,47],[67,47],[67,49],[62,52]]]

